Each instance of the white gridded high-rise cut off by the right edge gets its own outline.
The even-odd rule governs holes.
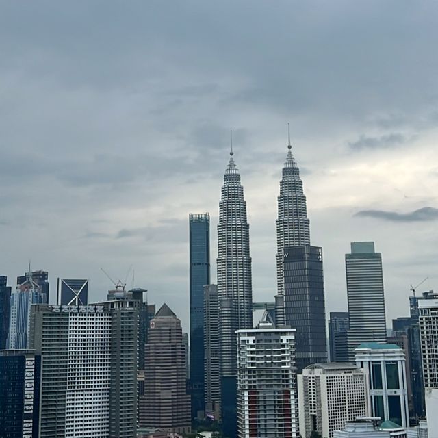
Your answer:
[[[438,437],[438,294],[418,300],[429,438]]]

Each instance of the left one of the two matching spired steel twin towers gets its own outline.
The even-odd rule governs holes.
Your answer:
[[[253,287],[249,251],[249,224],[244,188],[233,159],[224,175],[218,224],[218,298],[222,376],[237,372],[237,329],[253,327]]]

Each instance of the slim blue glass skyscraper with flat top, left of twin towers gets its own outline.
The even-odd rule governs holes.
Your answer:
[[[210,216],[190,214],[190,394],[192,418],[204,404],[204,286],[210,283]]]

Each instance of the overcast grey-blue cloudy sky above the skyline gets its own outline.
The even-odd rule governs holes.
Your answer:
[[[31,259],[52,300],[57,276],[98,300],[100,268],[133,265],[188,328],[188,214],[211,214],[215,261],[233,129],[272,300],[289,122],[327,314],[350,242],[374,240],[406,315],[410,283],[438,289],[437,40],[435,1],[0,1],[0,273]]]

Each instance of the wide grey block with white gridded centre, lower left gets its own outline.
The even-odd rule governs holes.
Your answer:
[[[32,306],[40,352],[40,437],[135,437],[138,302]]]

